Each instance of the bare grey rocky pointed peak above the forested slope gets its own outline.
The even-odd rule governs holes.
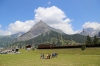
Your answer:
[[[41,35],[43,33],[50,32],[51,30],[52,31],[56,31],[58,33],[64,34],[64,32],[62,30],[54,29],[54,28],[48,26],[42,20],[40,20],[28,32],[26,32],[25,34],[23,34],[20,37],[18,37],[17,40],[18,41],[29,40],[29,39],[35,38],[35,37],[37,37],[37,36],[39,36],[39,35]]]

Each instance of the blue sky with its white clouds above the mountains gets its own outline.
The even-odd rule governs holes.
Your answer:
[[[27,32],[39,19],[67,34],[95,29],[100,26],[100,0],[0,0],[0,35]]]

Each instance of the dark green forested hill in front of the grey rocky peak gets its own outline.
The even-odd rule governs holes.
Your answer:
[[[85,41],[85,36],[80,34],[74,34],[74,35],[67,35],[67,34],[61,34],[56,31],[49,31],[46,33],[42,33],[41,35],[25,40],[25,41],[17,41],[13,43],[12,45],[21,45],[25,46],[27,44],[34,44],[34,46],[38,46],[39,44],[55,44],[56,46],[61,45],[75,45],[75,44],[81,44]]]

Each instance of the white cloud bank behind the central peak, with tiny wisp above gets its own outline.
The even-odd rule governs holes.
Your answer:
[[[51,2],[48,2],[51,3]],[[15,21],[9,24],[7,30],[0,30],[0,35],[10,35],[18,32],[27,32],[33,25],[40,20],[43,20],[53,28],[61,29],[67,34],[76,33],[73,31],[71,19],[58,7],[38,7],[34,10],[34,20],[27,20],[25,22]],[[0,26],[1,27],[1,26]]]

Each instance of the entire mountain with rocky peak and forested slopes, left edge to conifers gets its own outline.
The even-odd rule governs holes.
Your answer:
[[[15,46],[26,44],[50,43],[58,46],[66,44],[84,43],[84,36],[80,34],[67,35],[62,30],[52,28],[40,20],[28,32],[0,37],[1,46]]]

